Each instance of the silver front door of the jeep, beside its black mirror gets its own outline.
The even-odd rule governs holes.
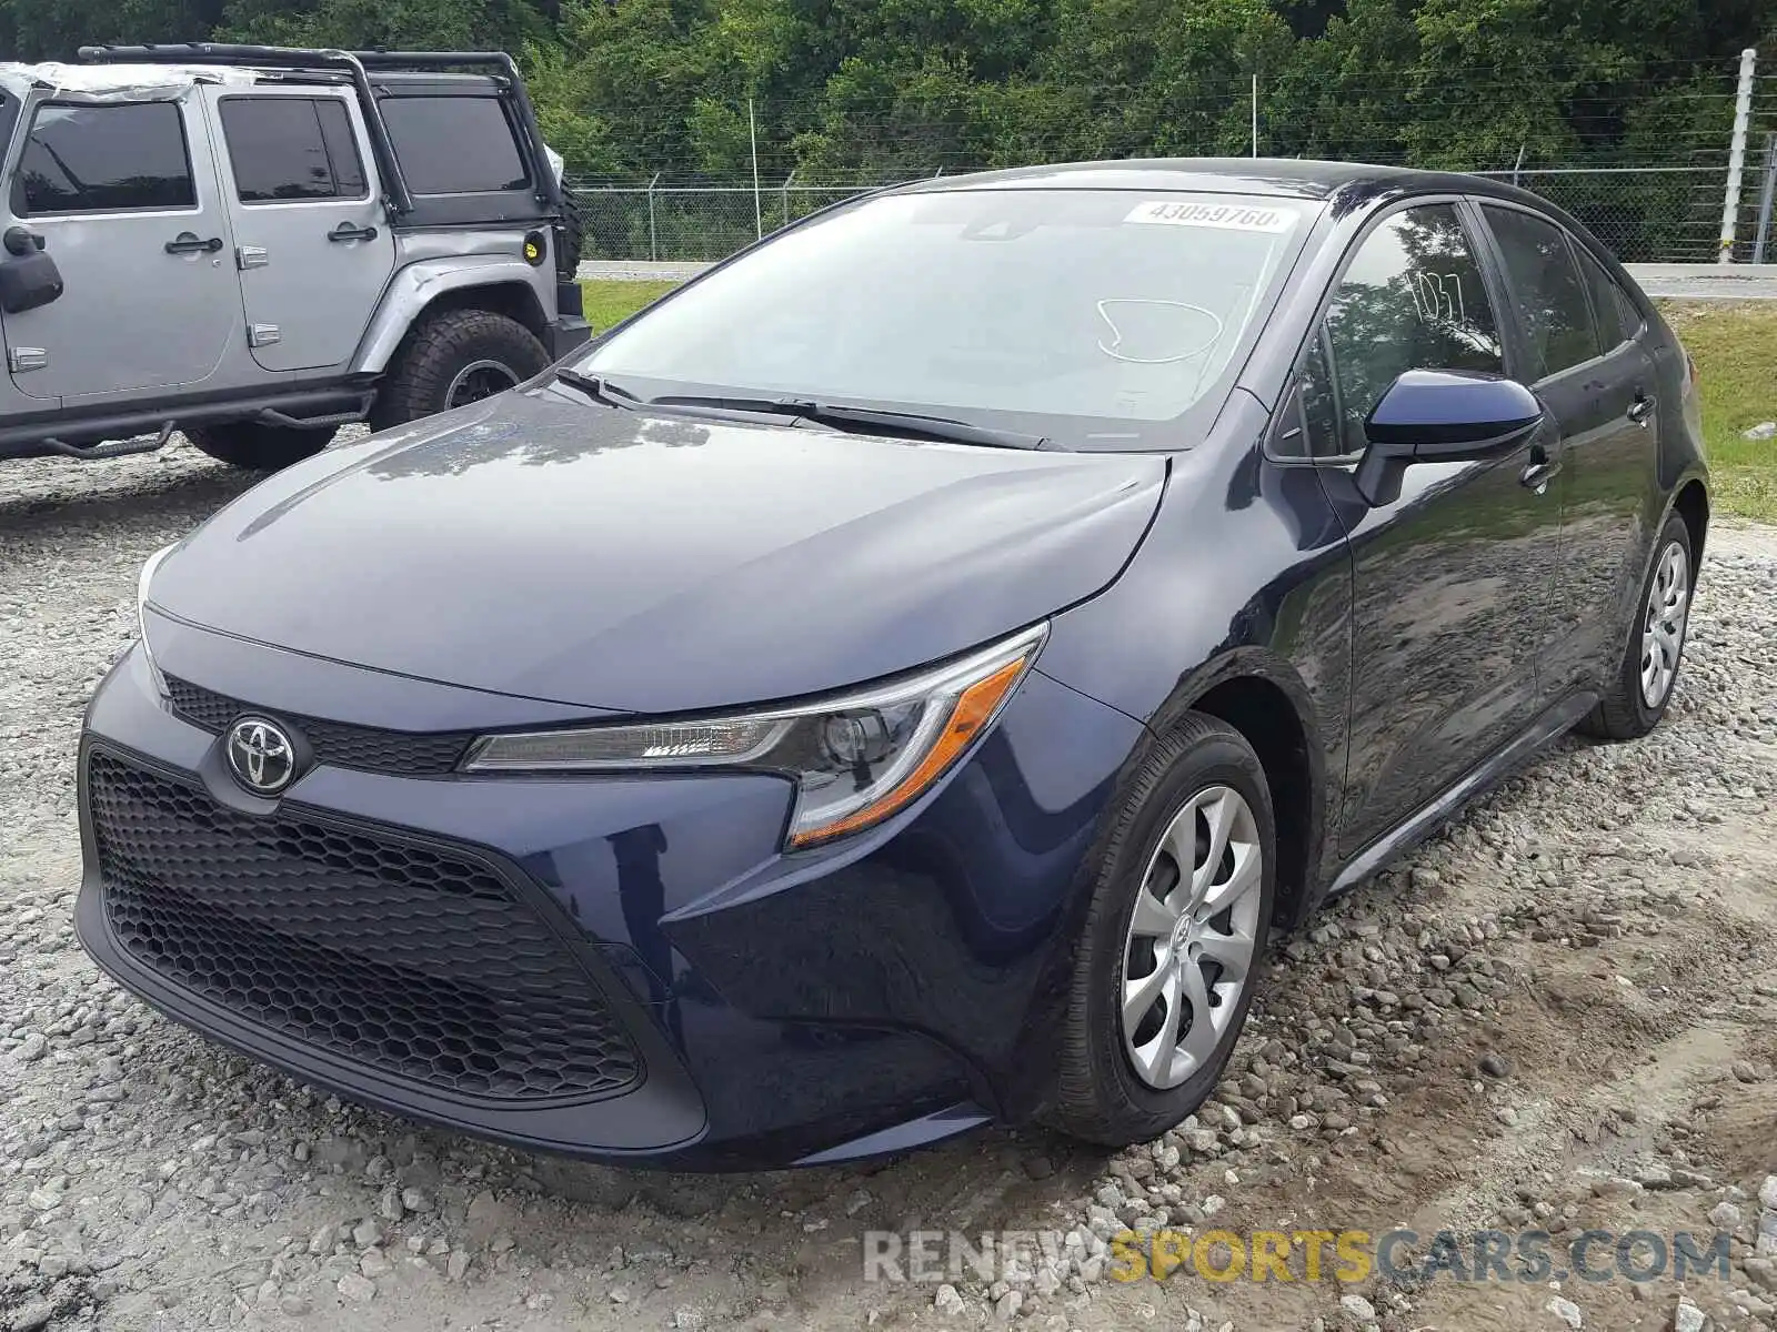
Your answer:
[[[215,375],[240,336],[227,217],[192,99],[34,99],[5,229],[41,238],[64,291],[7,316],[7,369],[34,400],[151,396]]]

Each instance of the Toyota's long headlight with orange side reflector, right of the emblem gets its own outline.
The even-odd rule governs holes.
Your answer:
[[[743,767],[796,781],[789,844],[855,833],[906,806],[993,725],[1048,625],[961,661],[793,709],[581,730],[485,735],[471,773]]]

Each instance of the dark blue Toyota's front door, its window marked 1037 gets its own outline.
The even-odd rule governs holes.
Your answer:
[[[1400,497],[1354,485],[1370,408],[1407,369],[1507,373],[1500,288],[1454,199],[1372,222],[1304,353],[1306,451],[1352,561],[1347,781],[1354,854],[1454,785],[1537,714],[1535,666],[1555,588],[1560,508],[1525,485],[1532,451],[1418,464]]]

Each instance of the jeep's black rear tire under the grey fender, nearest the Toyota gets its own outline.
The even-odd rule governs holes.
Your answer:
[[[471,371],[483,362],[498,369]],[[428,314],[394,353],[377,389],[377,401],[370,408],[370,426],[387,430],[474,401],[474,398],[451,401],[453,385],[466,371],[482,373],[483,380],[490,382],[506,378],[510,384],[505,387],[510,387],[542,373],[547,364],[549,353],[544,352],[544,345],[530,329],[505,314],[485,309],[448,309]]]

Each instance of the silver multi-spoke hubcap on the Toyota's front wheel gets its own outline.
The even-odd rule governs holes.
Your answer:
[[[1123,1050],[1150,1087],[1210,1062],[1258,950],[1258,822],[1237,790],[1185,801],[1148,861],[1123,947]]]

